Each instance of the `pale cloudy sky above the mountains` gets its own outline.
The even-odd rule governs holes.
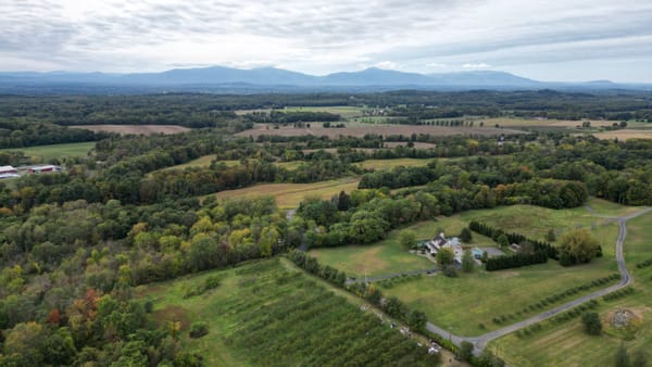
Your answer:
[[[0,71],[492,69],[652,83],[650,0],[0,0]]]

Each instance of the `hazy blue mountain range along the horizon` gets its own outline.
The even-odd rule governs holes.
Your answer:
[[[161,73],[0,73],[0,91],[12,89],[114,88],[166,91],[315,91],[315,90],[468,90],[468,89],[647,89],[650,85],[622,85],[609,80],[547,83],[504,72],[474,71],[416,74],[381,68],[314,76],[274,67],[240,69],[224,66],[175,68]]]

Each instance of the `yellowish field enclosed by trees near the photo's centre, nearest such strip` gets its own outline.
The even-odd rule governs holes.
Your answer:
[[[358,189],[356,178],[342,178],[338,180],[321,181],[314,184],[264,184],[244,189],[227,190],[216,193],[217,199],[236,197],[274,195],[280,208],[294,208],[303,198],[317,195],[329,199],[340,191],[351,192]]]

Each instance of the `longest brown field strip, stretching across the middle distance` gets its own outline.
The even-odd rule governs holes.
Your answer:
[[[238,132],[239,136],[258,138],[263,135],[274,135],[284,137],[299,136],[327,136],[328,138],[338,138],[339,136],[351,136],[362,138],[367,134],[379,134],[381,136],[412,134],[429,134],[436,136],[453,136],[453,135],[474,135],[474,136],[497,136],[501,134],[523,134],[524,131],[516,129],[497,129],[497,128],[478,128],[478,127],[440,127],[440,126],[414,126],[414,125],[384,125],[369,127],[346,127],[346,128],[294,128],[291,126],[281,127],[278,129],[271,128],[267,125],[256,125],[253,129]]]

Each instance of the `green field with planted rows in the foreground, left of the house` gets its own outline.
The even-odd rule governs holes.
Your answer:
[[[186,289],[215,276],[218,288],[184,299]],[[154,302],[159,325],[180,322],[184,349],[202,355],[206,366],[413,366],[432,360],[425,347],[340,292],[279,258],[138,290]],[[209,333],[190,339],[193,321],[206,322]]]

